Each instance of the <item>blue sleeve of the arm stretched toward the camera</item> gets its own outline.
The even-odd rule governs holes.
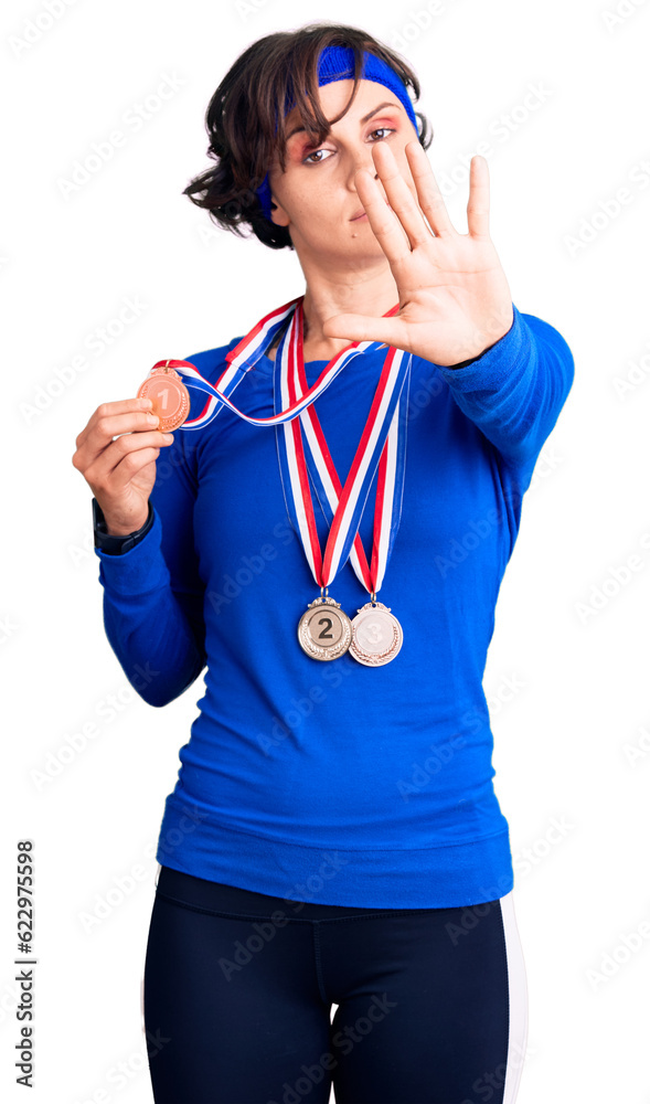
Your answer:
[[[532,473],[574,379],[574,359],[561,333],[512,305],[508,333],[471,363],[438,367],[460,410],[507,464]]]

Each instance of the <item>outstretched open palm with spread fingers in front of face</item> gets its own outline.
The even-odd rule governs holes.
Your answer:
[[[359,199],[391,265],[399,312],[390,318],[333,315],[324,321],[323,335],[382,341],[449,367],[479,357],[508,333],[513,321],[510,288],[489,235],[488,162],[480,155],[471,159],[468,233],[459,234],[425,150],[415,140],[404,149],[417,202],[386,142],[373,146],[372,156],[391,206],[366,169],[354,177]]]

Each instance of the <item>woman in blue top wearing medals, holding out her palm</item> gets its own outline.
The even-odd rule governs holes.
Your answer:
[[[481,680],[573,359],[511,301],[483,158],[451,225],[408,89],[356,28],[242,54],[187,194],[295,250],[305,293],[180,362],[175,434],[127,399],[77,438],[125,672],[164,705],[206,666],[157,852],[157,1102],[516,1096],[525,973]]]

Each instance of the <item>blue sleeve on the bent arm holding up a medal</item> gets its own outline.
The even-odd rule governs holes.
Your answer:
[[[160,449],[149,532],[121,555],[95,549],[106,635],[150,705],[173,701],[205,666],[204,587],[193,540],[196,485],[185,437],[179,429]]]

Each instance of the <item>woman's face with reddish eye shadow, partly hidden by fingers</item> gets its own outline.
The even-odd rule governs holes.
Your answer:
[[[334,118],[345,106],[354,82],[333,81],[319,88],[320,106],[326,118]],[[270,169],[269,184],[276,208],[271,219],[286,226],[299,255],[324,258],[383,257],[363,204],[356,193],[354,173],[367,169],[376,177],[372,148],[387,141],[399,172],[416,202],[417,193],[404,147],[417,139],[417,134],[397,96],[376,81],[360,81],[356,95],[345,115],[334,123],[320,146],[310,145],[301,126],[297,108],[286,120],[287,168],[283,172],[276,158]],[[381,195],[385,190],[376,178]]]

